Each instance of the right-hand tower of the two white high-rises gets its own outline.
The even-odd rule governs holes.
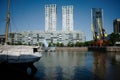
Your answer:
[[[62,6],[62,31],[73,31],[73,6]]]

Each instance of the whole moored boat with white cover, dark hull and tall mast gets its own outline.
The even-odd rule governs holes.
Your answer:
[[[8,29],[10,23],[10,0],[8,0],[8,14],[6,19],[5,45],[0,45],[0,63],[21,64],[34,63],[38,61],[42,54],[38,52],[36,46],[7,45]]]

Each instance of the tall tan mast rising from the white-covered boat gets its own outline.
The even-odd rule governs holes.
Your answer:
[[[10,24],[10,0],[8,0],[8,12],[7,12],[7,18],[6,18],[6,32],[5,32],[5,45],[7,45],[7,42],[8,42],[9,24]]]

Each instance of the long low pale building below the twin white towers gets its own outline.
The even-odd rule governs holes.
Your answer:
[[[22,32],[13,32],[14,37],[9,37],[9,42],[11,43],[21,43],[21,44],[38,44],[43,43],[44,40],[47,43],[53,40],[53,43],[63,43],[65,46],[69,42],[85,42],[85,35],[81,31],[55,31],[55,32],[45,32],[45,31],[22,31]]]

